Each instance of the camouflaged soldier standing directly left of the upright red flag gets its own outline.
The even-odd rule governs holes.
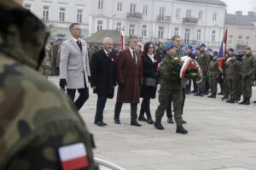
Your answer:
[[[209,98],[216,98],[218,75],[219,75],[217,59],[218,59],[218,52],[214,52],[212,61],[210,62],[210,65],[208,68],[209,85],[212,91],[212,95],[208,96]]]

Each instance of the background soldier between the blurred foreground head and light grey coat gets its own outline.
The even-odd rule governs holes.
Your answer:
[[[52,59],[52,47],[50,43],[46,43],[45,45],[45,57],[40,67],[40,72],[45,77],[48,77],[51,73],[51,59]]]

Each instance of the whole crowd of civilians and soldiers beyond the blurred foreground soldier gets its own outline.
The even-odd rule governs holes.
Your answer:
[[[188,133],[183,128],[186,121],[182,118],[186,94],[216,98],[218,84],[221,89],[218,94],[223,95],[222,100],[250,105],[256,59],[249,47],[240,54],[229,48],[224,57],[224,68],[220,68],[217,51],[207,48],[204,43],[199,47],[189,45],[183,47],[179,36],[173,36],[172,42],[166,44],[146,42],[143,48],[138,45],[139,37],[131,36],[128,47],[121,50],[118,45],[114,46],[110,37],[105,37],[101,45],[86,44],[79,38],[81,31],[79,24],[74,23],[70,31],[72,37],[62,44],[49,39],[45,47],[46,57],[41,72],[46,76],[60,74],[60,86],[63,89],[67,87],[67,94],[73,100],[75,89],[78,89],[79,99],[74,101],[78,110],[89,98],[88,88],[93,88],[93,92],[98,95],[95,118],[98,126],[107,125],[103,122],[103,110],[107,99],[113,99],[116,85],[118,91],[113,116],[116,124],[121,124],[119,116],[123,103],[130,103],[132,126],[142,126],[137,122],[138,120],[154,124],[154,127],[162,130],[164,127],[161,119],[165,111],[167,122],[174,123],[173,107],[177,123],[176,132]],[[189,56],[199,63],[202,71],[201,82],[196,82],[195,77],[174,78],[168,76],[167,71],[165,72],[165,65],[169,60],[181,59],[183,56]],[[79,86],[76,86],[78,81]],[[150,99],[155,99],[158,84],[160,84],[160,105],[155,111],[154,122],[150,111]],[[139,98],[143,100],[137,116]]]

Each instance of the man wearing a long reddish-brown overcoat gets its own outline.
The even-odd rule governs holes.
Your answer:
[[[142,126],[137,122],[137,104],[140,99],[140,86],[143,85],[141,56],[136,52],[138,37],[129,37],[129,47],[119,53],[117,58],[117,78],[119,88],[114,108],[114,122],[120,124],[119,115],[123,103],[131,104],[131,125]]]

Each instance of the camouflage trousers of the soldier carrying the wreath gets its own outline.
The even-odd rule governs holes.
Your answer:
[[[182,102],[183,102],[183,96],[181,89],[177,90],[177,88],[170,88],[167,85],[160,86],[159,91],[159,102],[160,105],[157,107],[157,110],[155,111],[155,120],[161,121],[162,117],[165,115],[165,111],[167,108],[167,105],[172,99],[173,102],[173,112],[174,112],[174,119],[175,122],[178,125],[183,124],[183,118],[182,118]]]

